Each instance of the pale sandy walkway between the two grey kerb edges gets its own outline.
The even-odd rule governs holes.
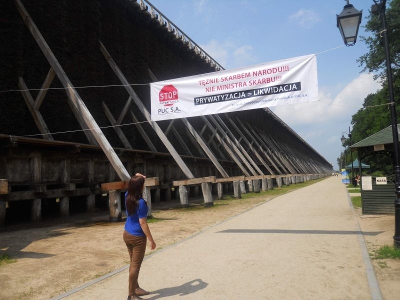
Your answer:
[[[329,177],[146,256],[139,282],[153,300],[379,299],[368,259],[345,187]],[[63,299],[126,299],[127,277]]]

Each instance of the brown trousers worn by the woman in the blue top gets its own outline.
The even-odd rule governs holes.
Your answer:
[[[128,248],[130,257],[128,296],[134,296],[134,289],[139,286],[137,277],[139,276],[140,265],[146,250],[147,238],[145,236],[132,235],[123,230],[123,241]]]

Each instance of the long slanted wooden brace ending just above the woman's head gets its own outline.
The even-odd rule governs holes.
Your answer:
[[[19,13],[21,14],[26,26],[28,27],[29,31],[32,33],[34,39],[36,40],[37,44],[39,45],[40,49],[42,50],[43,54],[46,56],[48,62],[50,63],[51,67],[54,69],[54,72],[57,74],[58,79],[61,81],[62,85],[66,88],[66,93],[69,98],[69,103],[72,111],[75,113],[77,120],[82,120],[84,124],[86,124],[87,128],[90,128],[89,136],[94,136],[100,147],[102,148],[105,156],[107,156],[108,160],[110,161],[111,165],[115,169],[116,173],[118,174],[119,178],[128,180],[130,178],[128,172],[126,171],[125,167],[123,166],[122,162],[119,160],[118,156],[116,155],[114,149],[105,138],[104,134],[101,132],[100,127],[98,127],[97,123],[95,122],[93,116],[87,109],[86,105],[84,104],[83,100],[80,98],[77,91],[73,88],[73,85],[69,78],[66,76],[65,71],[59,64],[58,60],[55,58],[53,52],[45,42],[43,36],[40,34],[40,31],[37,29],[36,25],[34,24],[32,18],[27,13],[25,7],[22,5],[20,0],[14,0]],[[87,130],[84,130],[86,132]],[[87,135],[86,135],[87,136]],[[89,139],[90,140],[90,139]]]

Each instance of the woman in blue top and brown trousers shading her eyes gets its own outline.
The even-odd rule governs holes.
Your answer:
[[[128,248],[130,256],[129,265],[129,291],[127,300],[139,300],[140,296],[149,292],[140,288],[137,283],[140,265],[146,249],[146,239],[150,242],[151,250],[155,249],[155,242],[147,225],[147,203],[142,193],[144,178],[136,173],[130,178],[128,191],[125,193],[126,222],[123,230],[123,241]]]

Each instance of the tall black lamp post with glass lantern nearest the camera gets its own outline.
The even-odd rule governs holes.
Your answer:
[[[336,25],[340,30],[340,34],[343,37],[343,41],[346,45],[355,44],[356,34],[358,32],[358,27],[360,23],[360,18],[362,10],[358,11],[353,7],[353,5],[348,3],[344,5],[343,11],[337,15],[336,14]],[[394,245],[400,248],[400,153],[398,147],[398,133],[397,133],[397,116],[396,108],[394,102],[393,93],[393,80],[391,76],[391,66],[390,66],[390,53],[389,53],[389,42],[387,37],[386,29],[386,0],[372,0],[374,4],[371,6],[371,12],[380,15],[380,20],[382,22],[382,30],[380,36],[383,38],[384,52],[386,59],[386,75],[387,75],[387,87],[389,90],[389,108],[390,108],[390,120],[391,120],[391,132],[393,137],[393,149],[394,149],[394,174],[395,174],[395,193],[396,198],[394,200]],[[357,23],[354,30],[354,24]]]

